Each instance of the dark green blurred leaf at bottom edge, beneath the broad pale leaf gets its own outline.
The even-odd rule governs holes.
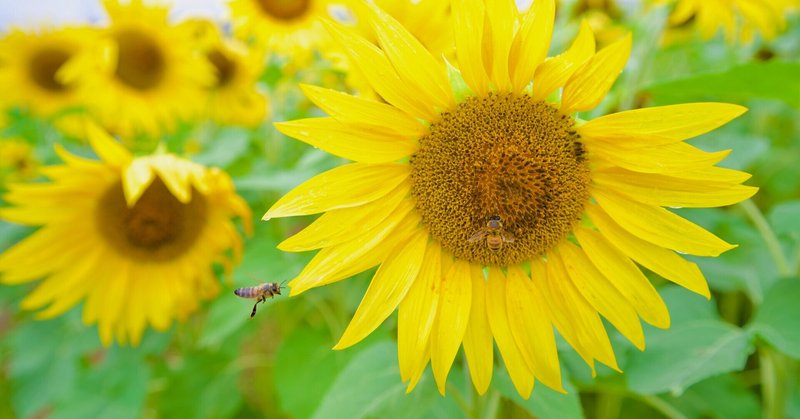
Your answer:
[[[750,419],[761,415],[758,397],[730,374],[700,381],[680,397],[666,395],[664,399],[689,419]]]

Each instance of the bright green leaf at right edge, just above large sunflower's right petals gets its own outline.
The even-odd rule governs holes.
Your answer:
[[[756,62],[720,73],[692,75],[646,88],[658,104],[772,99],[800,107],[800,62]]]

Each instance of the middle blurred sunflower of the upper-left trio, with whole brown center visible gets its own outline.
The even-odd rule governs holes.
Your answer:
[[[111,26],[64,69],[66,79],[82,82],[84,99],[101,123],[126,137],[154,136],[196,116],[214,76],[188,31],[168,23],[166,8],[142,0],[103,5]]]

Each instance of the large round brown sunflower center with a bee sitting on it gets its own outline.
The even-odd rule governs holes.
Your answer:
[[[552,249],[589,199],[574,121],[527,95],[469,98],[431,124],[411,158],[412,193],[456,257],[508,266]]]

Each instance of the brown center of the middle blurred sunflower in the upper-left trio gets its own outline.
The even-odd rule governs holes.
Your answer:
[[[134,29],[116,36],[118,50],[116,77],[136,90],[152,89],[164,79],[166,60],[156,41]]]

